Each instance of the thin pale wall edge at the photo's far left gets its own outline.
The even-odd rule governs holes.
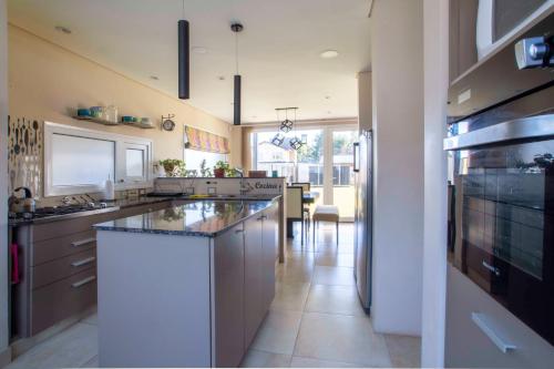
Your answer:
[[[8,324],[8,13],[0,0],[0,367],[7,356]]]

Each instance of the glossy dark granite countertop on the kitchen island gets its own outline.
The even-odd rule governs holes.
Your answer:
[[[278,196],[277,196],[278,197]],[[94,225],[99,230],[215,237],[271,206],[274,199],[197,201]]]

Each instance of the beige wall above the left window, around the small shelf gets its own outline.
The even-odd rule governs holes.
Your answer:
[[[154,160],[183,157],[183,125],[187,124],[236,140],[230,124],[187,103],[151,89],[117,72],[82,58],[16,25],[9,25],[10,114],[93,130],[152,139]],[[175,82],[176,83],[176,82]],[[193,91],[194,94],[194,91]],[[120,115],[148,116],[158,123],[162,114],[176,114],[173,132],[103,126],[71,119],[75,107],[110,105]],[[240,143],[232,142],[232,163],[240,162]]]

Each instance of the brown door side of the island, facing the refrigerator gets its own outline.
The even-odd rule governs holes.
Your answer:
[[[278,214],[274,204],[215,238],[216,367],[240,363],[275,297]]]

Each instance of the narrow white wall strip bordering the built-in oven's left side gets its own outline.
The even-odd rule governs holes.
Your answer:
[[[423,367],[444,365],[447,298],[447,132],[449,1],[424,0],[425,211],[423,238]]]

